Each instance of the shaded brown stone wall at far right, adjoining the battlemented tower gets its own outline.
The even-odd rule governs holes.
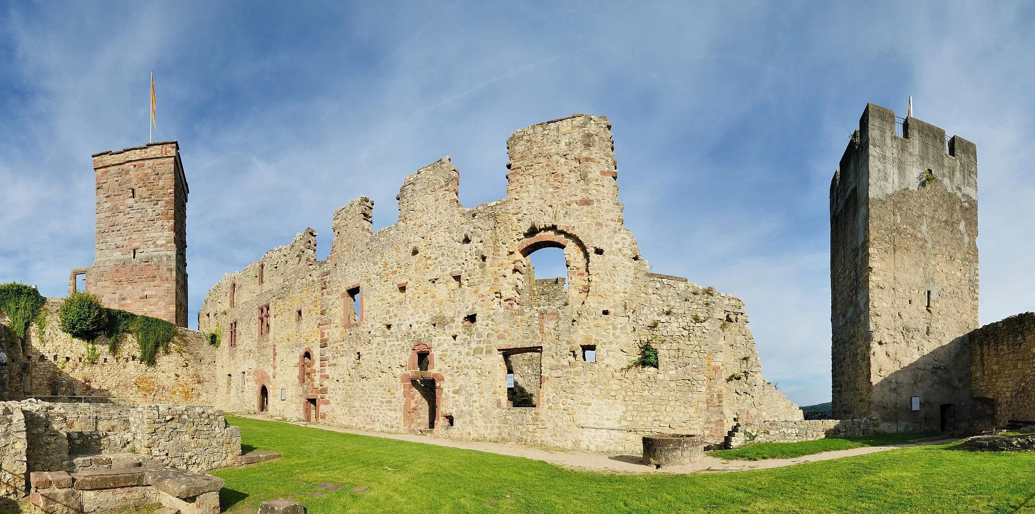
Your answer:
[[[972,392],[988,404],[993,426],[1011,421],[1035,424],[1035,313],[985,325],[968,334],[967,340]],[[982,421],[977,413],[975,418]]]

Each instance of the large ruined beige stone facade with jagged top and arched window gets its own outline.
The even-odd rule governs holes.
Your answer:
[[[465,208],[445,157],[226,275],[199,328],[220,335],[216,403],[387,431],[626,451],[644,433],[721,443],[734,418],[800,420],[762,377],[743,303],[649,272],[623,224],[610,122],[576,115],[507,142],[507,196]],[[562,279],[529,255],[561,248]],[[657,368],[634,365],[657,349]]]

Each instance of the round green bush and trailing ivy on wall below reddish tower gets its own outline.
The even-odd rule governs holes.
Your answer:
[[[148,366],[154,365],[159,349],[169,352],[169,343],[176,335],[176,327],[165,320],[107,308],[96,296],[88,293],[69,295],[58,309],[58,316],[61,330],[72,337],[89,341],[87,358],[92,355],[94,362],[97,350],[93,345],[93,339],[101,332],[108,336],[108,352],[111,354],[118,353],[119,342],[124,334],[134,334],[140,350],[140,360]]]

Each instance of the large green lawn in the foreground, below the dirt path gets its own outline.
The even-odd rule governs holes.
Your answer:
[[[1035,512],[1035,454],[917,447],[777,470],[617,475],[493,453],[230,419],[284,458],[214,472],[224,510],[293,497],[331,512]],[[318,488],[321,484],[324,489]],[[368,487],[365,492],[353,492]],[[321,495],[314,495],[321,494]]]

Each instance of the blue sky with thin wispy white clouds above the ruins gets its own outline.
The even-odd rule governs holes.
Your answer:
[[[985,6],[987,5],[987,6]],[[867,101],[978,145],[981,323],[1035,306],[1035,8],[1022,2],[0,1],[0,282],[93,260],[90,154],[178,140],[191,318],[224,273],[443,155],[468,206],[506,138],[607,115],[653,271],[741,297],[763,370],[830,398],[831,175]],[[541,276],[541,274],[540,274]]]

